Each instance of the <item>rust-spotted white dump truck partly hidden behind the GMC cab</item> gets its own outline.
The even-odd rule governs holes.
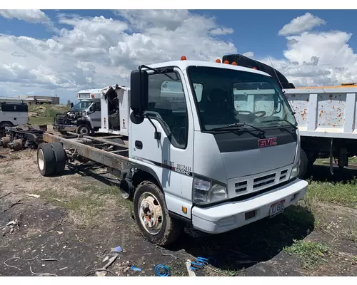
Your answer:
[[[347,167],[348,158],[357,155],[356,83],[295,88],[276,69],[259,61],[241,55],[223,56],[223,61],[265,71],[281,86],[294,110],[301,135],[298,177],[308,177],[317,158],[329,158],[330,171],[333,174],[333,162],[340,168]],[[252,98],[256,98],[256,95],[248,93],[240,102],[240,108],[246,110],[244,104],[251,104],[248,110],[260,110],[260,102]]]

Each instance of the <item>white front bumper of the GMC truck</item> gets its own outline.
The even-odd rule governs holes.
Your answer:
[[[193,207],[193,227],[209,234],[231,231],[268,217],[271,205],[276,202],[285,199],[284,208],[298,202],[305,196],[307,187],[308,182],[296,179],[287,185],[243,201],[225,202],[206,208]],[[255,215],[246,219],[246,213],[253,210]]]

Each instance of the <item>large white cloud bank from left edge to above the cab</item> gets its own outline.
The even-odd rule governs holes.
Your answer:
[[[179,59],[215,61],[236,53],[211,36],[216,20],[186,10],[116,11],[121,19],[59,14],[56,36],[0,35],[0,89],[74,96],[81,88],[128,85],[139,64]],[[1,88],[6,86],[6,88]]]

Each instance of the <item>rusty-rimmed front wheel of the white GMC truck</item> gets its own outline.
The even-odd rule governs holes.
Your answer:
[[[164,247],[181,233],[179,222],[169,216],[164,193],[153,182],[141,182],[136,188],[134,214],[141,234],[153,244]]]

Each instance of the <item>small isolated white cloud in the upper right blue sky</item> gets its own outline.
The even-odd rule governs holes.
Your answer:
[[[303,31],[311,31],[316,26],[326,24],[326,21],[313,16],[311,13],[305,13],[303,16],[298,16],[292,19],[290,23],[286,24],[278,32],[281,36],[288,36],[293,34],[302,33]]]

